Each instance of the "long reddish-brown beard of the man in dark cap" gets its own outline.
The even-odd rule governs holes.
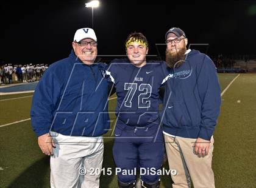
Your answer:
[[[172,54],[169,52],[168,49],[166,49],[165,51],[165,61],[166,64],[168,65],[168,67],[170,67],[171,69],[175,68],[179,68],[180,65],[182,65],[182,63],[184,62],[183,60],[185,60],[186,58],[186,48],[180,49],[179,52]]]

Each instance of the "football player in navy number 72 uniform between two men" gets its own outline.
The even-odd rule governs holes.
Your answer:
[[[150,170],[160,169],[163,163],[158,92],[166,77],[166,64],[147,62],[148,50],[146,37],[131,33],[126,39],[128,59],[114,59],[106,72],[117,95],[113,156],[121,169],[118,186],[122,188],[135,187],[136,171],[141,169],[149,171],[140,174],[142,187],[160,187],[160,176]]]

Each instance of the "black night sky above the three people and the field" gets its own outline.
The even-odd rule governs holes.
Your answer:
[[[1,2],[0,63],[66,58],[76,30],[91,27],[85,2]],[[94,8],[98,55],[124,55],[124,41],[134,31],[148,38],[149,55],[157,55],[155,43],[164,43],[171,27],[180,27],[189,43],[209,44],[208,55],[256,55],[256,1],[181,2],[101,0]]]

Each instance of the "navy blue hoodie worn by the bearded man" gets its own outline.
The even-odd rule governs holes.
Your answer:
[[[191,50],[177,69],[169,69],[163,131],[184,138],[210,140],[221,106],[216,67],[204,53]]]

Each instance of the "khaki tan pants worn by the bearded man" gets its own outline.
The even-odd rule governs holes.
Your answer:
[[[165,147],[168,156],[169,169],[177,170],[176,175],[171,175],[173,188],[191,187],[214,188],[215,180],[212,170],[213,136],[208,155],[199,157],[194,154],[196,139],[177,138],[165,135]]]

